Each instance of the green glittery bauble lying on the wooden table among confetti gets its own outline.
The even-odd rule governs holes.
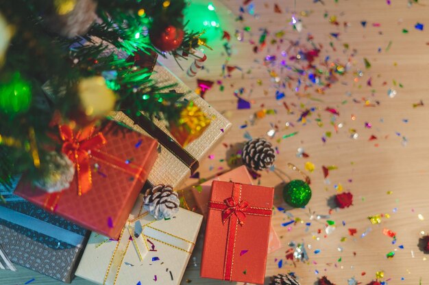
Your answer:
[[[302,208],[311,198],[310,186],[303,180],[292,180],[283,189],[284,202],[294,208]]]

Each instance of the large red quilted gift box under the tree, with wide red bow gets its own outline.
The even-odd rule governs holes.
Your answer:
[[[62,151],[76,167],[70,187],[47,193],[23,178],[14,193],[83,228],[117,239],[158,157],[158,142],[116,122],[79,133],[68,126],[59,129]]]

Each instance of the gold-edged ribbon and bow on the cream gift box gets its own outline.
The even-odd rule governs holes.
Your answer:
[[[119,236],[119,240],[117,241],[117,245],[114,248],[112,258],[110,258],[106,275],[104,275],[103,285],[116,284],[125,254],[127,254],[131,243],[134,244],[134,249],[136,250],[136,254],[138,255],[140,261],[143,261],[143,258],[147,255],[148,252],[154,250],[154,244],[151,243],[150,240],[168,245],[174,249],[186,252],[186,254],[192,253],[195,243],[192,241],[187,241],[186,239],[182,239],[180,236],[170,234],[169,232],[159,230],[154,225],[154,223],[159,221],[149,215],[148,212],[142,213],[142,211],[143,204],[140,207],[140,211],[138,211],[137,217],[134,219],[128,219],[127,223],[125,224],[125,227],[121,232],[121,236]],[[142,223],[142,232],[138,238],[134,236],[135,224],[137,221]],[[140,239],[143,239],[143,242],[139,241]],[[108,241],[110,241],[110,239],[106,239],[106,241],[103,241],[103,243]],[[100,247],[103,245],[103,243],[99,244],[97,247]],[[143,243],[145,246],[141,246],[141,243]]]

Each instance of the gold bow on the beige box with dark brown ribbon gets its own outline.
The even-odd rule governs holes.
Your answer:
[[[178,122],[170,122],[170,132],[185,147],[197,139],[210,124],[210,118],[193,101],[180,112]]]

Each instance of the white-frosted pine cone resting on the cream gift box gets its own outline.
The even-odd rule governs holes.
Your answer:
[[[179,211],[179,195],[170,185],[157,185],[145,193],[145,209],[155,219],[173,217]]]

